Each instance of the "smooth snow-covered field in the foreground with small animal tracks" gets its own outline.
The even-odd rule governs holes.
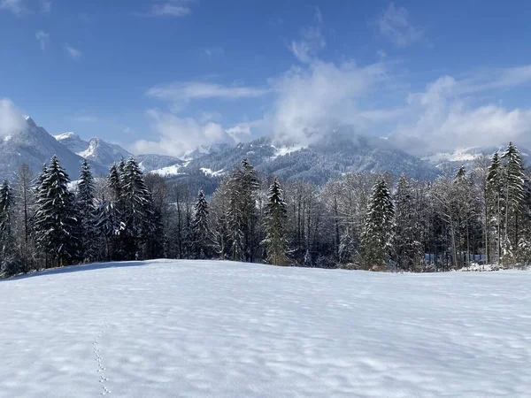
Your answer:
[[[0,281],[6,397],[529,396],[531,272],[99,264]]]

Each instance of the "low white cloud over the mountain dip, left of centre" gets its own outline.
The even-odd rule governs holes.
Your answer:
[[[173,113],[148,111],[157,137],[153,141],[140,140],[129,149],[134,153],[157,153],[182,157],[201,145],[234,142],[231,134],[218,123],[203,123],[193,118],[180,118]]]

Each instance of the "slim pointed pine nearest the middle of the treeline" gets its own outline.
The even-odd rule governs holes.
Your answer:
[[[282,195],[281,184],[275,177],[269,188],[266,204],[266,239],[263,241],[267,249],[267,261],[270,264],[286,265],[288,251],[284,232],[286,218],[286,203]]]

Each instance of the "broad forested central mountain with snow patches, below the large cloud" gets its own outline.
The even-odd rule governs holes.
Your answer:
[[[197,156],[198,155],[198,156]],[[166,177],[201,175],[219,178],[247,157],[260,172],[273,173],[282,180],[308,180],[324,184],[345,172],[406,173],[417,179],[432,179],[438,170],[427,162],[393,148],[385,140],[336,133],[308,147],[281,146],[263,137],[234,147],[210,149],[186,164],[157,170]]]

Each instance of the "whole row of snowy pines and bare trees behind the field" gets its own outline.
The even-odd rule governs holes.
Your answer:
[[[319,188],[244,159],[207,200],[134,158],[106,179],[84,162],[71,182],[52,157],[0,187],[0,272],[164,257],[407,272],[527,264],[529,177],[512,143],[431,182],[352,173]]]

